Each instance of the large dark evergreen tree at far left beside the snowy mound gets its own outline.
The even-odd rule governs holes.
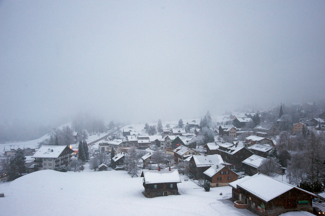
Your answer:
[[[16,178],[22,176],[22,173],[27,171],[25,159],[26,157],[24,152],[20,148],[16,150],[14,156],[9,158],[9,181],[15,180]]]

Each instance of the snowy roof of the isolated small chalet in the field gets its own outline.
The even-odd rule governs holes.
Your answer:
[[[177,169],[169,170],[148,170],[143,171],[141,177],[144,177],[146,184],[158,183],[178,183],[182,182]]]

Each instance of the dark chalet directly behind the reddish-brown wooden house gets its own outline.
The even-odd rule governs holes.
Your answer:
[[[189,159],[189,177],[193,179],[203,178],[203,172],[215,163],[223,163],[220,155],[193,155]]]

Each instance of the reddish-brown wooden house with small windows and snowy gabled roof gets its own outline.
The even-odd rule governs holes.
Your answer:
[[[228,183],[236,181],[238,174],[226,166],[215,163],[203,172],[204,179],[209,181],[211,187],[227,186]]]

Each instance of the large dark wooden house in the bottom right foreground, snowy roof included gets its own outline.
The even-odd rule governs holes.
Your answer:
[[[235,207],[259,215],[275,216],[288,211],[312,212],[315,194],[257,173],[229,183]]]

